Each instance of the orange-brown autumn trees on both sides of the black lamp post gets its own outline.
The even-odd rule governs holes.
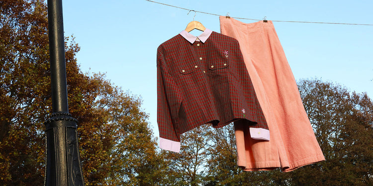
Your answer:
[[[43,185],[45,126],[51,111],[47,6],[43,0],[0,3],[0,182]],[[78,119],[86,185],[162,183],[165,163],[156,151],[141,98],[104,74],[82,73],[74,37],[65,38],[69,112]]]

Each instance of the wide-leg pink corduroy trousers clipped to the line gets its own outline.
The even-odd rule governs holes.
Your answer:
[[[220,16],[220,31],[239,41],[270,129],[270,141],[256,140],[248,126],[234,123],[238,166],[290,172],[325,160],[272,21],[243,23]]]

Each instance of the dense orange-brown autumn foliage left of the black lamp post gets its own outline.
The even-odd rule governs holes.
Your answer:
[[[42,121],[51,104],[45,8],[39,2],[0,3],[0,180],[4,185],[43,184]]]

